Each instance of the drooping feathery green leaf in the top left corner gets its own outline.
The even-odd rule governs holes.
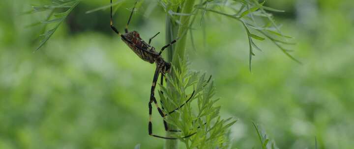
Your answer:
[[[81,2],[81,0],[52,0],[51,4],[43,6],[32,6],[28,13],[49,11],[48,17],[33,25],[44,24],[43,34],[40,35],[41,41],[36,50],[39,50],[52,37],[59,25],[66,19],[70,12]],[[47,25],[53,25],[51,29],[46,29]]]

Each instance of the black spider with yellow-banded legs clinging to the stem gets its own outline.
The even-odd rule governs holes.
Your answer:
[[[182,105],[180,105],[179,107],[177,107],[175,110],[171,111],[171,112],[167,112],[168,114],[165,114],[161,108],[159,107],[159,105],[157,104],[157,101],[155,99],[155,87],[156,87],[156,82],[158,79],[158,76],[161,74],[161,85],[163,84],[163,77],[165,74],[171,72],[171,63],[166,62],[161,54],[162,52],[168,48],[169,46],[172,46],[174,43],[176,43],[177,39],[173,40],[171,43],[167,44],[166,46],[162,47],[162,49],[160,50],[160,52],[157,52],[155,50],[154,47],[150,46],[151,40],[156,37],[160,32],[158,32],[157,34],[155,34],[154,36],[152,36],[149,39],[148,44],[142,39],[140,38],[140,35],[137,31],[128,31],[128,25],[130,23],[130,20],[132,18],[133,12],[135,11],[135,5],[137,2],[135,2],[134,4],[134,8],[133,11],[130,14],[128,23],[125,26],[125,33],[120,33],[118,31],[118,29],[113,25],[113,20],[112,20],[112,0],[111,0],[111,28],[113,29],[113,31],[115,31],[122,39],[122,41],[127,44],[129,46],[129,48],[131,50],[133,50],[141,59],[143,59],[144,61],[147,61],[151,64],[155,63],[156,64],[156,70],[155,73],[153,75],[153,79],[152,79],[152,85],[151,85],[151,93],[150,93],[150,100],[148,102],[148,110],[149,110],[149,121],[148,121],[148,134],[150,136],[153,137],[157,137],[157,138],[163,138],[163,139],[177,139],[177,138],[171,138],[171,137],[163,137],[163,136],[159,136],[159,135],[155,135],[152,133],[152,122],[151,122],[151,114],[152,114],[152,102],[155,104],[159,114],[161,115],[161,117],[163,118],[163,123],[165,126],[165,130],[166,131],[172,131],[172,132],[180,132],[180,130],[170,130],[168,128],[168,125],[166,123],[166,121],[164,120],[164,118],[168,115],[168,114],[172,114],[173,112],[175,112],[176,110],[178,110],[179,108],[181,108],[185,103],[187,103],[190,99],[192,99],[195,91],[193,91],[192,95],[190,96],[190,98],[188,100],[185,101],[185,103],[183,103]],[[209,78],[210,80],[210,78]],[[196,132],[195,132],[196,133]],[[187,138],[190,137],[192,135],[194,135],[195,133],[192,133],[190,135],[186,135],[183,138]]]

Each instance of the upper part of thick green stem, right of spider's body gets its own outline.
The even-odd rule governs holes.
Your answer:
[[[181,13],[182,14],[191,14],[193,11],[194,2],[195,2],[195,0],[186,0],[183,4]],[[186,45],[186,40],[187,40],[187,36],[185,36],[185,35],[187,33],[187,30],[189,29],[190,17],[191,17],[190,15],[180,17],[181,25],[179,25],[178,34],[177,34],[179,39],[176,43],[174,55],[172,58],[172,64],[174,64],[176,67],[179,64],[179,59],[185,60],[185,45]],[[177,67],[177,69],[179,69],[179,68]]]

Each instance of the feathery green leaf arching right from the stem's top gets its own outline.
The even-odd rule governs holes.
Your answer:
[[[265,6],[266,0],[202,0],[195,5],[196,9],[202,10],[202,19],[206,12],[222,15],[240,22],[246,33],[249,42],[249,66],[251,70],[252,56],[255,55],[254,49],[261,50],[254,40],[270,40],[275,46],[283,51],[288,57],[300,63],[295,59],[283,45],[293,45],[288,42],[289,36],[280,31],[280,27],[275,24],[272,14],[268,11],[283,12]],[[258,35],[254,32],[258,32]]]

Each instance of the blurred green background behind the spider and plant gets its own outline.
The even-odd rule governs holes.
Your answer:
[[[157,0],[156,0],[157,1]],[[142,61],[109,28],[109,10],[85,14],[109,0],[84,0],[39,51],[43,14],[20,15],[49,0],[0,1],[0,149],[162,149],[148,136],[148,97],[154,65]],[[132,1],[133,2],[133,1]],[[123,30],[132,2],[115,15]],[[281,149],[353,149],[354,1],[268,0],[282,31],[294,37],[286,57],[260,42],[252,73],[242,26],[207,15],[206,44],[195,31],[188,45],[193,70],[213,75],[223,117],[235,117],[233,148],[258,147],[251,121]],[[221,19],[220,19],[221,18]],[[220,22],[222,25],[220,25]],[[164,45],[165,14],[142,6],[130,28]],[[164,134],[154,115],[154,131]]]

